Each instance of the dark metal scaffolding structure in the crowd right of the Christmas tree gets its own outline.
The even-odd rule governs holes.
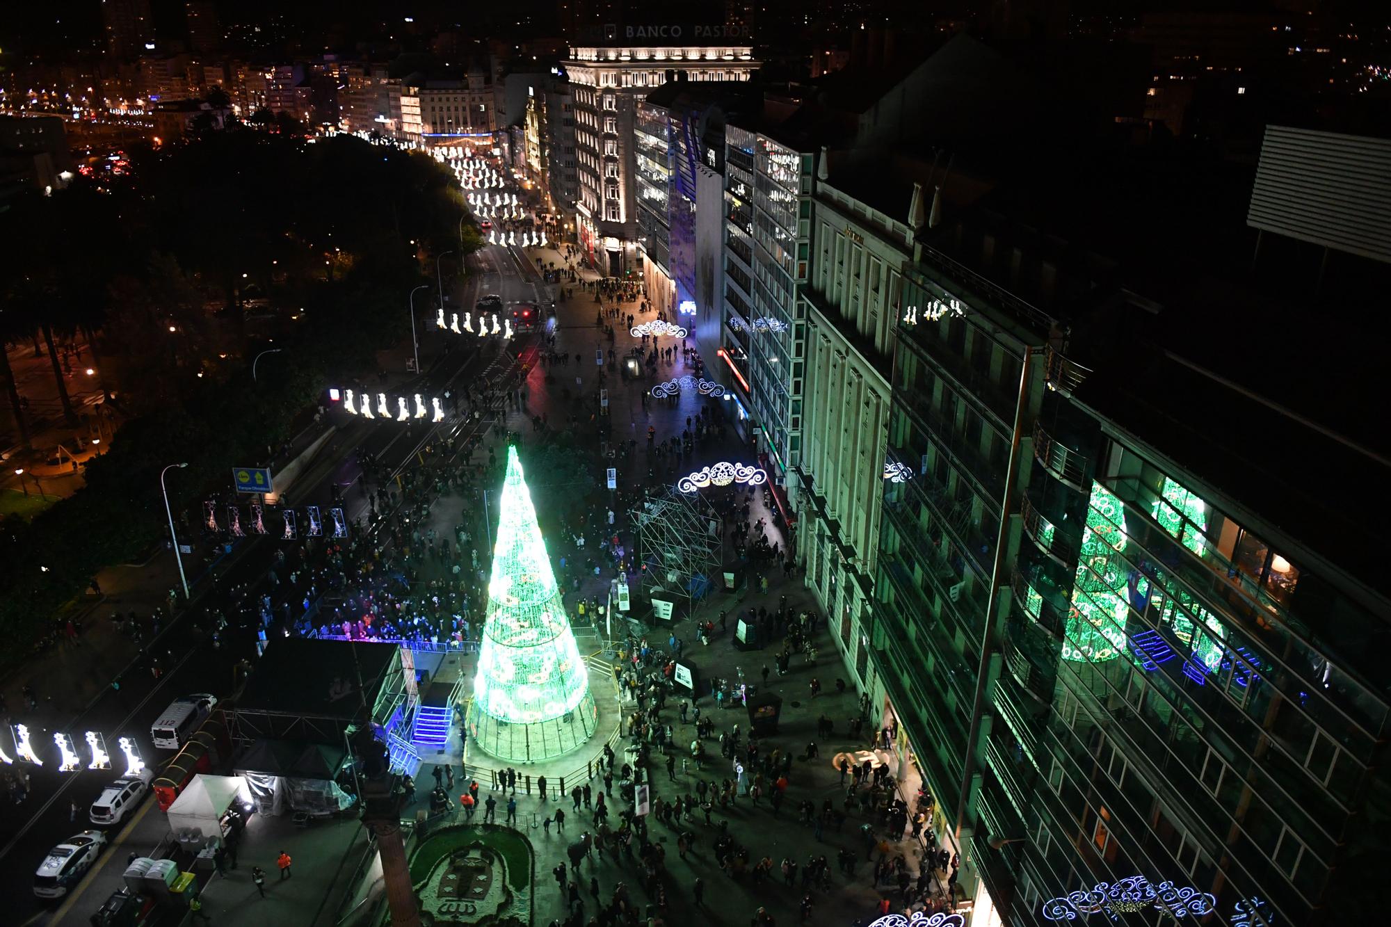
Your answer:
[[[691,614],[696,601],[722,587],[723,521],[700,493],[668,487],[633,509],[643,605],[670,601],[672,621]],[[654,607],[654,614],[661,612]]]

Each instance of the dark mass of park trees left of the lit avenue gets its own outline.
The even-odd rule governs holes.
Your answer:
[[[0,224],[0,248],[21,269],[4,284],[0,334],[99,331],[103,373],[134,418],[90,461],[82,490],[32,523],[0,526],[0,639],[11,653],[22,657],[97,571],[164,533],[164,465],[188,461],[168,489],[178,508],[193,502],[228,468],[264,461],[331,379],[405,337],[405,294],[433,281],[421,256],[458,249],[463,210],[430,157],[252,129],[145,153],[128,188],[21,198]],[[296,320],[275,335],[285,362],[262,363],[256,383],[250,358],[264,344],[245,331],[252,292]]]

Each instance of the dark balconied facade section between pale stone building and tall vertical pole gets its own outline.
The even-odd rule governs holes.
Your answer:
[[[992,619],[1003,600],[996,553],[1002,514],[1017,496],[1008,473],[1018,422],[1046,391],[1036,359],[1027,366],[1036,348],[976,302],[904,266],[886,465],[911,476],[885,480],[872,608],[885,697],[936,799],[933,832],[961,853],[958,889],[967,898],[976,866],[965,838],[1014,835],[1011,800],[1027,793],[1006,792],[992,766],[972,757],[993,763],[1002,747],[1020,754],[1010,715],[990,700],[1003,676]],[[956,309],[928,310],[942,305]],[[1018,465],[1021,455],[1014,458]],[[1015,521],[1006,522],[1006,555],[1018,546]]]

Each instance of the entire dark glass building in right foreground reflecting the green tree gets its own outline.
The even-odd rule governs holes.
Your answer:
[[[1039,253],[1006,220],[953,239],[903,269],[868,663],[960,891],[1021,926],[1341,923],[1385,788],[1385,674],[1355,642],[1391,601],[1341,501],[1252,431],[1384,468],[1164,347],[1155,302],[1117,290],[1067,330],[1039,306],[1084,270],[1035,263],[1039,305],[976,273],[971,248]]]

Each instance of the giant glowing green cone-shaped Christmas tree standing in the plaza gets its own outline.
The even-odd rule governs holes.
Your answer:
[[[573,750],[597,721],[588,667],[565,617],[522,461],[509,447],[469,731],[483,752],[527,763]]]

